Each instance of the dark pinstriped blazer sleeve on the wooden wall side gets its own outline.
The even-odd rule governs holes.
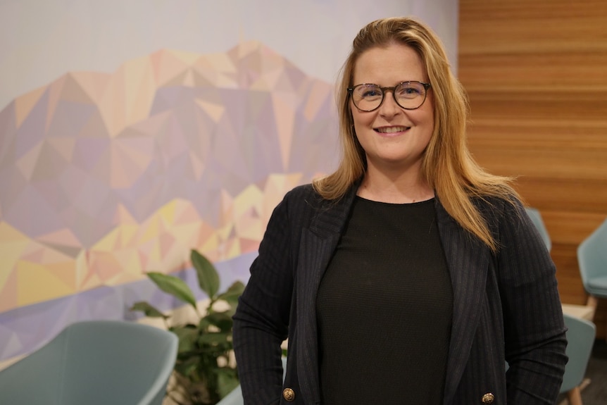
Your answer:
[[[496,256],[508,404],[554,404],[565,372],[565,325],[556,268],[522,204],[506,204]]]

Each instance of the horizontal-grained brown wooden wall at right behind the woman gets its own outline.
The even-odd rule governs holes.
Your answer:
[[[577,246],[607,217],[607,1],[460,0],[470,149],[517,176],[553,241],[561,299],[584,304]],[[607,337],[607,300],[595,316]]]

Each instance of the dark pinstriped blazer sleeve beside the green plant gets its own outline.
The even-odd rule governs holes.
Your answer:
[[[293,289],[289,194],[276,206],[234,314],[234,353],[246,405],[278,404]]]

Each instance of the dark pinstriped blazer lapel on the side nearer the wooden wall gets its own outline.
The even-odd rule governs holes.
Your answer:
[[[453,325],[449,344],[444,404],[450,404],[468,363],[486,291],[491,252],[461,228],[437,199],[439,234],[453,288]]]

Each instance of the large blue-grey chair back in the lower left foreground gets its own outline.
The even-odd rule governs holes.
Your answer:
[[[149,325],[74,323],[0,371],[0,404],[161,405],[177,344]]]

